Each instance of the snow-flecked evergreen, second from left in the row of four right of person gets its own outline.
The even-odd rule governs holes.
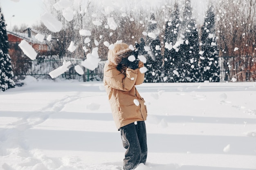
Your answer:
[[[164,77],[166,82],[173,82],[174,77],[177,77],[173,73],[174,61],[177,59],[177,53],[172,46],[177,42],[177,35],[180,30],[180,9],[177,2],[174,5],[174,10],[171,13],[170,19],[166,22],[165,38],[164,38]]]

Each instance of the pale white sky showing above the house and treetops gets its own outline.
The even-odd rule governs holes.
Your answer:
[[[144,1],[151,2],[151,0]],[[191,0],[192,6],[195,8],[195,11],[197,11],[194,15],[199,22],[203,21],[207,1],[208,0]],[[153,2],[156,1],[152,0],[152,3]],[[0,7],[4,14],[8,31],[10,31],[11,27],[14,25],[20,26],[21,24],[26,24],[27,26],[32,26],[34,24],[40,24],[40,15],[46,11],[42,0],[0,0]]]

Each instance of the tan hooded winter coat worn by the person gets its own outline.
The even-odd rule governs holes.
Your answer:
[[[117,129],[135,121],[144,121],[147,109],[144,99],[139,95],[135,85],[142,84],[144,73],[139,68],[144,66],[139,62],[139,68],[117,70],[117,65],[131,51],[128,44],[114,44],[115,48],[108,51],[108,62],[104,66],[103,83],[108,93],[112,115]],[[124,72],[123,72],[124,71]],[[139,105],[137,104],[139,102]],[[138,106],[137,106],[137,105]]]

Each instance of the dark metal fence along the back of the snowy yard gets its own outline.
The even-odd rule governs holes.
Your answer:
[[[72,63],[67,72],[59,75],[55,79],[76,79],[81,82],[102,81],[103,68],[106,61],[99,62],[99,66],[94,70],[84,69],[84,74],[76,73],[74,66],[81,64],[83,60],[70,60]],[[256,57],[219,57],[220,65],[220,82],[229,82],[232,78],[236,78],[237,82],[255,81],[256,79]],[[62,66],[63,60],[34,60],[29,61],[29,69],[24,74],[15,75],[16,79],[22,79],[26,75],[31,75],[36,79],[52,79],[49,72]]]

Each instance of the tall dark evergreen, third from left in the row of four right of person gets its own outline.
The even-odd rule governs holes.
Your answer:
[[[195,19],[193,18],[191,2],[186,0],[183,8],[182,22],[182,39],[183,44],[180,45],[178,58],[176,60],[177,72],[180,77],[177,82],[199,82],[199,36],[196,28]]]

